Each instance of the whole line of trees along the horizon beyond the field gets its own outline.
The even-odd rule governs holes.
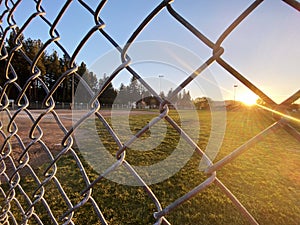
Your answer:
[[[17,74],[16,83],[23,88],[27,80],[32,76],[31,73],[31,63],[26,60],[27,56],[30,60],[33,60],[34,57],[38,54],[39,50],[42,48],[43,43],[41,40],[32,40],[31,38],[25,39],[23,36],[19,38],[22,43],[22,48],[20,51],[14,53],[12,58],[11,65],[14,72]],[[15,48],[14,44],[14,35],[10,34],[6,40],[6,50],[8,52],[12,51]],[[3,76],[0,77],[1,86],[5,82],[5,60],[0,61],[1,73]],[[53,50],[51,53],[44,51],[37,62],[37,67],[41,72],[39,79],[51,90],[55,85],[59,77],[62,76],[68,70],[69,58],[66,55],[62,57],[59,56],[58,52]],[[9,70],[10,73],[12,72]],[[89,85],[90,90],[93,93],[99,91],[106,79],[108,77],[104,74],[101,78],[97,78],[97,75],[87,69],[87,65],[84,62],[81,62],[78,65],[76,72],[85,82]],[[72,102],[72,89],[76,90],[78,87],[80,79],[73,78],[69,76],[65,79],[53,93],[53,98],[56,102],[71,103]],[[35,79],[29,86],[26,92],[30,102],[42,102],[46,96],[46,91],[43,88],[43,85],[38,79]],[[6,94],[9,99],[16,99],[20,94],[20,90],[16,88],[15,85],[10,85],[6,90]],[[163,99],[170,99],[172,95],[172,89],[168,93],[161,91],[159,94]],[[81,98],[81,99],[80,99]],[[89,96],[80,96],[78,101],[88,102]],[[190,92],[183,90],[176,96],[172,97],[173,106],[181,108],[190,108],[195,104],[196,107],[204,108],[207,106],[206,98],[197,98],[195,101],[192,100]],[[132,77],[130,83],[125,85],[122,83],[119,88],[113,87],[110,83],[104,92],[99,97],[100,104],[103,107],[112,107],[113,104],[136,108],[157,108],[159,106],[158,99],[153,96],[147,89],[145,89],[135,77]],[[204,103],[206,101],[206,103]]]

